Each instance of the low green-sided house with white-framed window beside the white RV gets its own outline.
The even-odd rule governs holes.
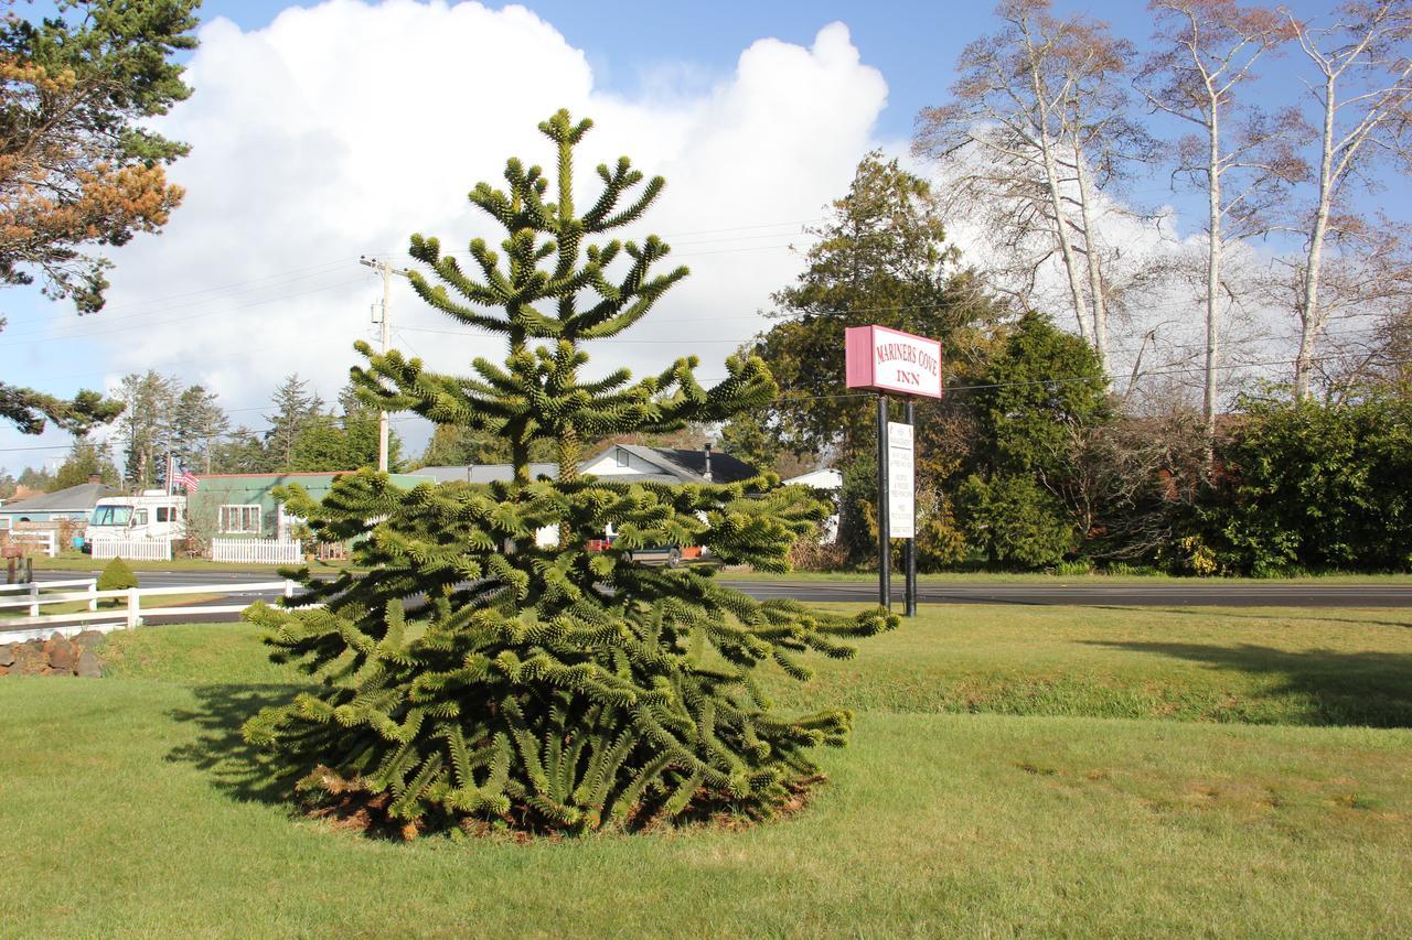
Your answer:
[[[195,491],[186,494],[186,526],[201,538],[288,539],[299,519],[289,517],[274,490],[298,483],[311,497],[322,500],[343,473],[209,473],[198,476]],[[435,483],[432,477],[394,473],[402,488]]]

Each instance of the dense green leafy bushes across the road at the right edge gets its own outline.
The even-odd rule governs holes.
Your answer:
[[[1243,412],[1202,514],[1226,570],[1412,569],[1412,387]]]

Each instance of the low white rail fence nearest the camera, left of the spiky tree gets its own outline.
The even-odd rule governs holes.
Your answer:
[[[83,586],[82,591],[66,594],[41,594],[41,589]],[[25,584],[0,584],[0,593],[20,591],[24,597],[6,600],[0,597],[0,608],[28,607],[30,615],[13,620],[0,620],[0,644],[24,642],[27,639],[45,639],[55,632],[73,637],[83,629],[110,632],[113,629],[133,629],[154,617],[189,617],[192,614],[237,614],[247,607],[243,604],[210,604],[201,607],[150,607],[143,610],[144,597],[172,597],[176,594],[240,594],[240,593],[268,593],[280,591],[284,597],[294,597],[294,582],[253,582],[250,584],[182,584],[181,587],[128,587],[116,591],[97,590],[97,579],[82,579],[69,582],[30,582]],[[100,600],[126,600],[124,607],[99,610]],[[64,604],[71,601],[88,601],[86,611],[72,614],[40,614],[44,604]]]

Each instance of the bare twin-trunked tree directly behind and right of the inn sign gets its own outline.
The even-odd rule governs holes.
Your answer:
[[[1107,24],[1059,18],[1049,0],[1005,0],[1005,27],[971,42],[957,61],[952,100],[918,117],[914,151],[949,171],[947,198],[1010,260],[1014,292],[1032,302],[1056,255],[1079,332],[1110,371],[1104,191],[1151,159],[1147,133],[1130,120],[1128,42]]]

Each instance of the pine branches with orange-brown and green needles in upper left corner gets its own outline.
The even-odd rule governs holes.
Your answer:
[[[167,223],[182,192],[162,165],[186,147],[148,119],[191,95],[172,59],[196,45],[198,3],[61,0],[31,21],[0,0],[0,285],[38,279],[93,313],[110,267],[99,250]],[[117,414],[97,392],[0,384],[0,418],[25,433],[47,419],[83,433]]]

